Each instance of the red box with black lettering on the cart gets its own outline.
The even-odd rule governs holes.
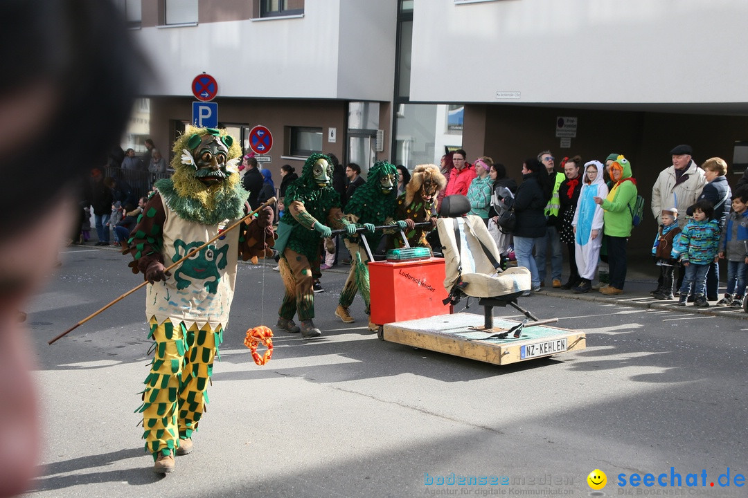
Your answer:
[[[384,323],[450,314],[444,305],[444,258],[369,264],[371,321]]]

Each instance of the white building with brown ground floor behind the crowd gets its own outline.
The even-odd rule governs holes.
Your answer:
[[[206,72],[220,125],[245,147],[254,125],[272,131],[275,175],[314,151],[412,168],[462,147],[515,178],[543,149],[618,152],[649,199],[673,146],[732,164],[748,140],[743,0],[120,3],[161,75],[147,96],[157,145],[191,120]],[[645,247],[656,228],[640,227]]]

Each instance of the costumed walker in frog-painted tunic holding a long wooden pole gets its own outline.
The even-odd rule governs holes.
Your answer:
[[[244,217],[249,208],[236,168],[241,150],[226,131],[188,126],[174,152],[174,175],[156,182],[156,193],[128,240],[135,258],[130,266],[149,282],[146,318],[155,353],[137,411],[143,414],[143,438],[157,473],[174,470],[174,453],[191,452],[192,435],[208,401],[213,358],[227,326],[237,259],[265,254],[266,240],[252,237],[255,246],[249,246],[247,234],[264,233],[266,227],[256,225],[269,219],[261,216],[227,231],[171,276],[166,266]]]

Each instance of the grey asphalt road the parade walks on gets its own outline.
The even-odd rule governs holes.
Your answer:
[[[270,267],[246,264],[194,452],[156,475],[134,413],[150,361],[144,293],[46,344],[139,276],[111,249],[71,247],[62,258],[28,310],[46,430],[29,496],[588,496],[598,468],[607,496],[746,496],[735,487],[748,475],[743,320],[533,296],[521,304],[586,332],[586,349],[496,367],[378,340],[358,298],[357,323],[340,323],[346,273],[330,271],[316,296],[322,337],[278,333],[272,361],[257,367],[244,332],[275,325],[282,285]],[[467,311],[481,313],[476,303]],[[702,470],[706,486],[687,488],[687,474],[700,485]],[[669,486],[671,472],[684,488],[616,484],[619,474],[666,473]],[[453,475],[478,484],[438,484]]]

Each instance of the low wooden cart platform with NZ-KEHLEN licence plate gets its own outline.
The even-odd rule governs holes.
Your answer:
[[[393,343],[496,365],[560,355],[584,349],[586,346],[586,336],[583,332],[547,325],[525,326],[518,338],[509,334],[506,338],[482,339],[495,334],[497,330],[511,329],[519,323],[494,317],[494,332],[482,332],[470,329],[483,325],[481,315],[445,314],[384,324],[379,337]]]

